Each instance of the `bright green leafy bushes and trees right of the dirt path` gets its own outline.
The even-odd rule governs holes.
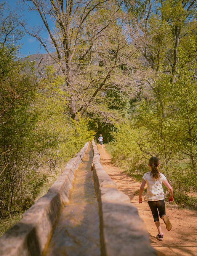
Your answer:
[[[189,47],[179,48],[175,79],[172,74],[157,76],[155,97],[140,102],[132,129],[124,125],[113,135],[112,156],[134,177],[148,171],[150,156],[159,157],[177,204],[196,208],[196,198],[187,193],[196,191],[197,48],[194,35],[187,40]]]

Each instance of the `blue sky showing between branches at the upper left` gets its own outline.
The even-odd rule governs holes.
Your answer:
[[[18,0],[7,0],[7,3],[10,5],[11,8],[20,9],[21,7],[24,9],[21,12],[23,15],[23,19],[27,21],[27,24],[31,27],[42,26],[42,20],[39,14],[36,11],[28,11],[27,7],[24,4],[18,3]],[[52,24],[52,21],[51,21]],[[42,33],[44,38],[48,38],[48,33],[45,31]],[[38,54],[38,53],[46,53],[44,48],[40,46],[39,41],[36,38],[31,37],[30,35],[25,34],[24,38],[21,40],[23,44],[20,49],[20,54],[22,56],[27,56],[29,54]]]

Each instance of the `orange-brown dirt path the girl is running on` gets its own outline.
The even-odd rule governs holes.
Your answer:
[[[105,148],[99,147],[99,152],[101,164],[105,171],[116,182],[118,189],[127,194],[131,202],[136,205],[139,215],[143,219],[148,233],[150,233],[151,245],[158,251],[158,255],[197,255],[197,211],[180,210],[167,206],[166,214],[172,223],[172,230],[167,231],[163,221],[160,221],[164,240],[156,240],[155,235],[158,232],[153,223],[147,200],[143,200],[141,205],[138,203],[136,191],[140,188],[141,183],[136,182],[122,169],[111,164],[110,154],[105,151]]]

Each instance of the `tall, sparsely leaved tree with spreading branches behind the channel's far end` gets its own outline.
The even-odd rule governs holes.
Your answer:
[[[120,81],[123,72],[119,67],[125,65],[129,74],[134,74],[136,60],[135,64],[133,60],[139,56],[139,46],[126,25],[129,14],[121,10],[122,2],[23,0],[23,3],[40,14],[49,33],[55,53],[51,53],[49,43],[41,38],[39,31],[30,32],[21,22],[25,31],[36,37],[58,63],[58,74],[64,76],[64,90],[70,95],[71,118],[77,119],[78,113],[83,116],[88,107],[92,108],[97,95],[112,81],[119,88],[126,82],[127,86],[131,84],[126,79]],[[49,18],[54,22],[54,29]]]

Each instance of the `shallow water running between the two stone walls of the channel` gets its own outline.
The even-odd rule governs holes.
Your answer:
[[[90,170],[92,157],[89,146],[76,171],[69,203],[63,207],[45,256],[101,254],[99,209]]]

